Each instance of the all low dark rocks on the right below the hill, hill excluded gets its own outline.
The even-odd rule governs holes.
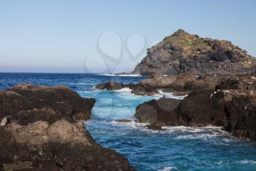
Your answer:
[[[140,95],[165,92],[188,94],[183,100],[162,98],[144,102],[136,108],[139,122],[149,129],[162,126],[223,126],[236,137],[256,139],[256,72],[248,75],[199,75],[184,73],[169,86],[155,86],[150,79],[124,85],[110,80],[96,88],[131,88]],[[148,89],[141,88],[148,83]],[[158,82],[159,83],[159,82]],[[140,89],[140,91],[138,91]],[[139,93],[138,93],[139,92]]]

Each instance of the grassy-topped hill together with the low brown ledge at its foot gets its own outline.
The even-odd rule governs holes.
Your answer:
[[[138,84],[104,83],[96,88],[132,89],[132,94],[158,94],[159,89],[176,94],[213,91],[226,77],[244,78],[256,72],[256,59],[226,40],[200,38],[179,29],[148,49],[132,74],[146,75]],[[250,82],[250,79],[246,81]],[[111,86],[111,84],[113,86]],[[117,86],[120,84],[119,86]]]

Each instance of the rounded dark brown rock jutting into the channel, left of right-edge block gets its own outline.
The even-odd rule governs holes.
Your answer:
[[[136,108],[140,122],[160,126],[208,126],[213,113],[207,94],[189,94],[183,100],[161,98],[144,102]]]

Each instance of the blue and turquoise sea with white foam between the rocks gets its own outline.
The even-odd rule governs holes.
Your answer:
[[[137,170],[256,170],[256,143],[239,140],[219,127],[165,127],[163,131],[146,129],[135,123],[135,107],[161,96],[135,96],[129,90],[96,90],[97,83],[109,79],[138,83],[142,77],[110,77],[97,74],[0,73],[0,88],[18,83],[65,85],[81,96],[97,102],[92,119],[86,121],[95,140],[118,151]],[[130,119],[118,123],[118,119]]]

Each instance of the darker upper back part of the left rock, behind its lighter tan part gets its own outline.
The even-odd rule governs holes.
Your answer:
[[[60,118],[69,121],[89,119],[95,100],[82,98],[65,86],[47,87],[23,84],[10,88],[8,91],[0,91],[0,102],[0,117],[12,115],[18,120],[24,117],[26,122],[27,116],[34,115],[33,113],[44,113],[49,115],[48,117],[42,115],[46,117],[46,120],[43,118],[36,120],[39,116],[34,115],[34,121],[42,119],[41,121],[53,123]]]

